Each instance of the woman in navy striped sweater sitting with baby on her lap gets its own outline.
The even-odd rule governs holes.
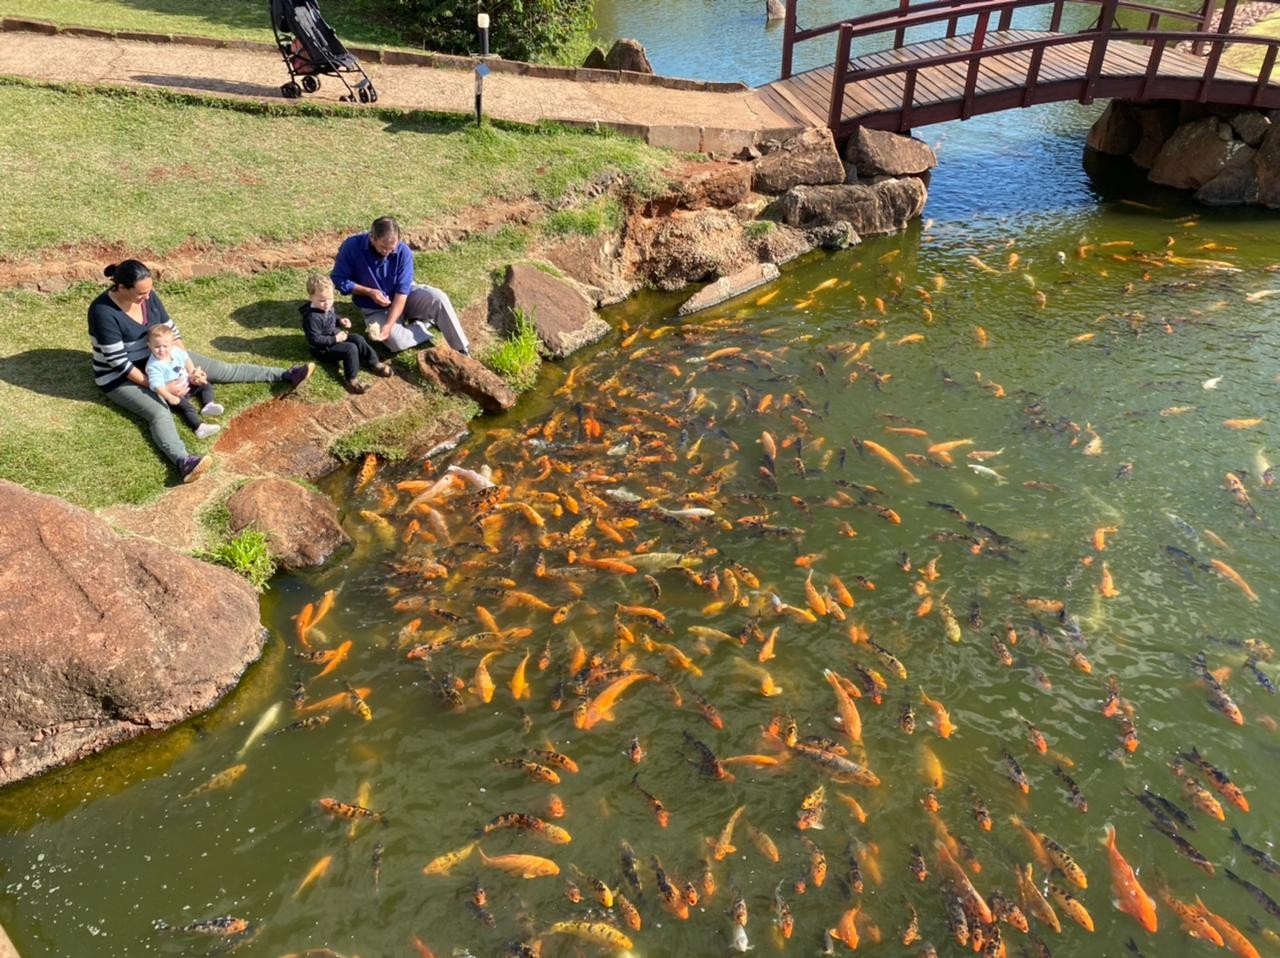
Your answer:
[[[124,260],[104,270],[111,286],[88,307],[88,339],[93,355],[93,382],[106,393],[106,398],[127,412],[142,419],[151,430],[156,448],[174,464],[182,482],[189,483],[207,469],[209,456],[192,456],[178,438],[169,403],[156,396],[146,374],[151,352],[147,332],[152,327],[173,329],[175,342],[182,345],[178,327],[152,292],[151,270],[138,260]],[[192,352],[193,364],[205,370],[210,383],[289,383],[297,387],[307,380],[314,362],[273,369],[244,362],[223,362]]]

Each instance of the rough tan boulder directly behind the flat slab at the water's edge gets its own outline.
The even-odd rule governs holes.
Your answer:
[[[727,210],[676,210],[627,220],[625,264],[659,289],[736,273],[755,260],[742,223]]]

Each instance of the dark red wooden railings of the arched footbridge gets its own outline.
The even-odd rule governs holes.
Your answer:
[[[1098,6],[1100,14],[1097,20],[1088,29],[1060,33],[1066,3]],[[1219,61],[1224,47],[1228,44],[1247,44],[1266,47],[1262,67],[1251,90],[1240,91],[1238,78],[1233,78],[1234,90],[1230,95],[1230,102],[1261,106],[1265,101],[1276,100],[1280,97],[1280,91],[1268,91],[1268,86],[1277,51],[1280,51],[1280,41],[1261,36],[1231,33],[1236,0],[1226,0],[1222,15],[1215,28],[1212,22],[1216,3],[1217,0],[1203,0],[1203,5],[1198,12],[1187,12],[1137,3],[1135,0],[928,0],[927,3],[915,4],[911,0],[900,0],[896,8],[887,8],[860,17],[800,29],[796,20],[799,0],[787,0],[787,19],[782,45],[782,77],[786,78],[792,74],[794,49],[797,44],[828,33],[838,35],[828,115],[828,124],[832,132],[837,134],[841,132],[845,88],[847,85],[877,77],[905,74],[897,126],[902,129],[909,129],[913,110],[918,109],[914,105],[914,100],[919,72],[928,67],[956,63],[968,64],[960,105],[960,118],[966,119],[973,115],[982,63],[988,58],[1005,54],[1030,53],[1019,102],[1012,104],[1029,106],[1038,101],[1037,91],[1044,86],[1041,78],[1044,53],[1056,46],[1069,44],[1092,44],[1088,67],[1084,76],[1071,83],[1064,83],[1060,78],[1053,79],[1052,85],[1056,88],[1056,95],[1052,99],[1079,99],[1080,102],[1091,102],[1098,91],[1100,81],[1105,79],[1102,67],[1107,45],[1112,38],[1123,38],[1126,42],[1149,46],[1146,73],[1133,92],[1126,95],[1133,95],[1137,99],[1169,96],[1170,99],[1193,99],[1206,102],[1211,95],[1222,92],[1215,88],[1213,83],[1217,77]],[[1032,40],[1011,42],[991,37],[993,32],[992,22],[995,22],[996,32],[1007,31],[1016,12],[1037,6],[1052,8],[1048,33]],[[1121,12],[1146,14],[1147,28],[1133,31],[1119,26],[1116,20]],[[1187,22],[1192,28],[1184,31],[1161,31],[1158,26],[1162,18]],[[959,35],[961,23],[968,19],[973,22],[973,35],[966,50],[922,56],[882,67],[850,68],[852,45],[860,37],[892,32],[892,47],[882,45],[879,49],[899,49],[906,44],[909,29],[945,23],[945,36],[952,38]],[[936,36],[937,31],[931,31],[931,33]],[[1197,54],[1202,53],[1204,47],[1208,49],[1208,55],[1204,59],[1204,69],[1198,81],[1184,76],[1165,77],[1160,73],[1160,65],[1166,49],[1170,44],[1180,42],[1188,44]],[[1132,87],[1133,85],[1130,83],[1129,86]],[[1070,96],[1062,92],[1064,87],[1071,87]],[[1266,96],[1268,92],[1271,92],[1270,97]]]

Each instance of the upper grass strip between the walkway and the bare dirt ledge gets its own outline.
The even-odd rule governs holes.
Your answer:
[[[556,200],[605,170],[660,179],[669,155],[554,126],[262,108],[157,92],[0,81],[0,257],[127,240],[279,242],[407,225],[472,205]]]

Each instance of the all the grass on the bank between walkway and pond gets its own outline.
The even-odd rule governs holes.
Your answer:
[[[174,251],[219,264],[246,243],[271,243],[296,257],[328,250],[388,211],[420,229],[443,216],[522,204],[516,222],[479,218],[465,238],[449,243],[444,236],[447,245],[417,254],[417,275],[445,289],[460,310],[481,300],[507,263],[562,232],[544,223],[572,218],[573,197],[589,183],[622,173],[657,188],[669,160],[637,141],[554,127],[475,129],[462,119],[390,110],[262,108],[14,81],[0,81],[0,156],[8,158],[0,160],[8,187],[0,192],[0,270],[42,260],[87,264],[96,273],[122,256]],[[352,188],[353,170],[365,169],[369,156],[378,175],[361,174]],[[613,224],[598,201],[584,205],[590,210],[577,228]],[[308,359],[297,313],[305,274],[282,268],[186,282],[161,275],[156,289],[193,348],[287,366]],[[0,403],[8,411],[0,478],[91,508],[146,502],[172,482],[145,429],[108,403],[90,375],[84,313],[101,288],[81,282],[45,293],[6,291],[0,341]],[[404,375],[416,377],[412,355],[397,359]],[[234,429],[237,412],[280,391],[219,386],[224,428]],[[344,392],[337,371],[321,366],[301,396],[332,401]],[[426,403],[357,430],[335,451],[402,455],[406,437],[433,410]],[[210,448],[179,430],[192,451]]]

